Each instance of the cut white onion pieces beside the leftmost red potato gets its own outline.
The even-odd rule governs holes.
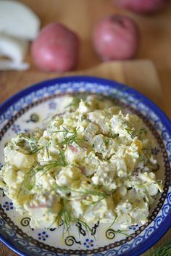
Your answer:
[[[36,38],[40,20],[34,12],[18,1],[0,1],[0,70],[26,70],[22,62],[28,41]]]

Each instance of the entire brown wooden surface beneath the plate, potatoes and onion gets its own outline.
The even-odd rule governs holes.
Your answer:
[[[126,83],[153,99],[171,117],[171,1],[162,12],[154,15],[135,15],[112,4],[111,0],[22,0],[41,18],[41,24],[62,22],[80,36],[81,48],[77,71],[81,74],[96,75]],[[100,64],[93,51],[91,33],[99,18],[115,13],[126,14],[138,23],[141,44],[137,59],[130,62],[107,62]],[[157,67],[146,60],[151,59]],[[144,60],[143,60],[144,59]],[[62,75],[75,73],[41,73],[33,65],[30,52],[25,59],[30,62],[30,70],[25,72],[0,73],[0,103],[32,83]],[[98,66],[96,66],[98,65]],[[96,66],[96,67],[95,67]],[[91,67],[94,67],[91,69]],[[85,70],[86,69],[86,70]],[[87,70],[88,69],[88,70]],[[77,73],[77,74],[78,74]],[[159,80],[161,88],[159,86]],[[162,93],[161,93],[162,91]],[[151,248],[157,248],[171,238],[171,231]],[[14,256],[14,252],[0,244],[0,256]],[[143,254],[143,256],[146,255]],[[131,256],[131,255],[130,255]],[[162,256],[162,255],[161,255]]]

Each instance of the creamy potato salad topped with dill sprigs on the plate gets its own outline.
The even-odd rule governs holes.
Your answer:
[[[162,192],[148,128],[112,99],[70,98],[46,128],[7,143],[0,176],[4,193],[20,214],[28,213],[32,228],[146,223]]]

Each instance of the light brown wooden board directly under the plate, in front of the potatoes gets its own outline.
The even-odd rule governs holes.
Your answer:
[[[29,70],[20,73],[14,71],[1,72],[0,103],[4,102],[9,96],[12,96],[12,94],[33,83],[64,75],[94,75],[117,80],[145,94],[164,110],[162,106],[162,91],[159,84],[159,78],[153,63],[148,59],[126,62],[106,62],[88,70],[72,73],[41,73]],[[150,250],[161,246],[164,241],[168,241],[170,237],[171,231],[168,231],[167,234],[154,247],[151,247]],[[0,244],[0,255],[14,256],[16,254]],[[143,254],[143,256],[145,255],[146,253]]]

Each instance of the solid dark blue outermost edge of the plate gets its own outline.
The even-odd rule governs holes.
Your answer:
[[[38,91],[38,89],[41,89],[43,87],[49,87],[54,85],[54,83],[67,83],[67,82],[89,82],[89,83],[101,83],[103,86],[114,86],[114,88],[126,88],[126,92],[128,94],[133,94],[136,99],[143,99],[143,103],[146,104],[150,109],[152,109],[158,117],[162,120],[162,123],[164,124],[164,127],[167,128],[167,131],[171,134],[171,122],[170,119],[167,117],[167,115],[164,114],[164,112],[151,101],[147,96],[141,94],[134,88],[130,88],[129,86],[126,86],[123,83],[116,82],[114,80],[109,80],[106,78],[99,78],[96,76],[87,76],[87,75],[73,75],[73,76],[66,76],[62,78],[53,78],[49,80],[43,80],[40,83],[34,83],[31,86],[28,86],[21,91],[17,92],[13,96],[9,97],[3,104],[0,106],[0,115],[8,108],[10,105],[14,104],[18,99],[22,98],[22,96],[25,96],[27,94],[30,94],[33,91]],[[154,232],[154,234],[151,236],[150,241],[146,239],[143,241],[141,245],[138,245],[138,247],[135,247],[131,249],[131,256],[138,256],[141,255],[143,252],[146,252],[150,247],[152,247],[159,239],[164,236],[164,234],[169,230],[171,227],[170,223],[171,218],[171,208],[170,211],[167,214],[167,217],[164,219],[164,222],[162,223],[162,228],[158,228],[157,231]],[[17,249],[11,241],[8,241],[0,234],[0,241],[5,244],[9,249],[12,249],[13,252],[17,253],[20,256],[28,256],[25,254],[25,252],[22,252],[20,249]],[[138,249],[138,250],[137,250]],[[129,252],[125,252],[124,255],[128,255]],[[60,254],[59,254],[60,255]]]

